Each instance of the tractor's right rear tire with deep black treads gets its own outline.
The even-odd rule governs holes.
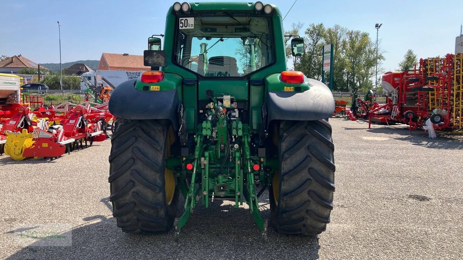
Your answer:
[[[333,209],[331,125],[328,120],[283,120],[275,132],[280,168],[269,189],[273,225],[282,234],[320,234]]]

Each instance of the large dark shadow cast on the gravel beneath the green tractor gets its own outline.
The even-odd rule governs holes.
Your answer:
[[[263,195],[266,195],[265,192]],[[268,198],[268,197],[267,197]],[[103,201],[103,199],[102,199]],[[268,199],[263,198],[262,202]],[[103,202],[105,203],[105,202]],[[182,209],[184,200],[180,200]],[[215,203],[215,202],[214,202]],[[231,204],[198,205],[181,229],[180,242],[174,230],[159,235],[123,233],[114,217],[87,217],[72,229],[70,247],[19,248],[7,259],[318,259],[318,236],[288,236],[275,233],[269,221],[269,240],[261,242],[260,229],[248,209]],[[180,216],[178,211],[177,215]],[[261,214],[269,218],[268,205]],[[110,216],[108,216],[110,217]]]

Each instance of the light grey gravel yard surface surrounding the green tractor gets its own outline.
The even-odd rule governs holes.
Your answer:
[[[173,230],[122,233],[108,201],[107,140],[55,161],[0,157],[0,259],[462,259],[463,139],[330,122],[336,192],[321,235],[279,235],[270,222],[262,244],[246,207],[220,201],[198,206],[180,243]],[[269,218],[267,192],[260,202]],[[67,223],[72,246],[21,246],[19,231],[43,223]]]

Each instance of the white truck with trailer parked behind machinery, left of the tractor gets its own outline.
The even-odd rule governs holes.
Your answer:
[[[102,82],[101,77],[105,77],[106,80],[109,80],[115,87],[117,87],[120,83],[124,82],[125,80],[130,80],[134,78],[138,78],[143,71],[125,71],[125,70],[94,70],[89,71],[81,75],[81,90],[87,90],[87,85],[85,84],[83,77],[86,77],[90,82],[95,82],[95,75],[96,80],[98,83],[106,83]]]

